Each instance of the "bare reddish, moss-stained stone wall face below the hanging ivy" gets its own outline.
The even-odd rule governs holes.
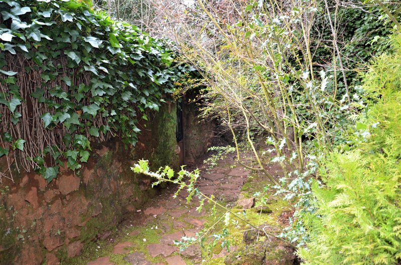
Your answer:
[[[125,149],[117,139],[92,144],[80,171],[61,170],[49,184],[35,172],[1,184],[0,264],[57,264],[79,255],[85,242],[107,234],[151,197],[150,179],[130,166],[145,158],[153,169],[178,167],[175,104],[163,105],[141,124],[134,148]]]

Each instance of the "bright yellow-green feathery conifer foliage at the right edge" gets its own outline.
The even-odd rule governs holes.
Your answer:
[[[369,107],[353,147],[323,161],[316,214],[304,216],[310,242],[304,264],[397,264],[401,261],[401,37],[396,52],[365,74]],[[362,136],[361,136],[362,135]]]

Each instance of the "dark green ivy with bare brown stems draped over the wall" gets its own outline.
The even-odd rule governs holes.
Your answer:
[[[78,169],[90,142],[135,145],[138,120],[193,68],[168,45],[77,0],[0,0],[0,157],[40,172]]]

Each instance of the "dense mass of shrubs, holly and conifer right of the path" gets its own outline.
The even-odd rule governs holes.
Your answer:
[[[228,126],[238,161],[293,202],[278,236],[307,264],[400,262],[400,51],[389,48],[398,10],[379,0],[197,0],[164,10],[165,35],[207,72],[204,116]],[[242,141],[254,163],[241,157]]]

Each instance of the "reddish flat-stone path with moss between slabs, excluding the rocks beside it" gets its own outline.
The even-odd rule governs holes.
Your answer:
[[[210,170],[205,165],[201,165],[199,169],[202,171],[197,181],[197,187],[204,194],[214,194],[219,201],[229,207],[235,205],[241,189],[248,188],[248,193],[243,192],[241,196],[250,197],[249,193],[252,193],[252,183],[255,182],[255,179],[252,183],[248,181],[250,172],[242,166],[236,165],[234,157],[219,161],[218,166]],[[247,185],[244,186],[246,182]],[[257,188],[263,185],[263,182],[261,183],[257,179],[256,182]],[[225,211],[217,209],[216,217],[212,216],[212,205],[210,204],[206,204],[202,211],[196,211],[199,201],[194,198],[188,203],[186,191],[181,191],[177,198],[173,198],[176,189],[177,187],[174,186],[164,189],[159,196],[152,199],[143,209],[138,210],[132,218],[124,222],[118,231],[101,236],[107,237],[107,239],[95,242],[92,246],[84,249],[83,254],[74,259],[72,263],[88,265],[224,264],[227,250],[220,247],[221,242],[210,247],[209,251],[201,249],[199,243],[181,249],[182,251],[174,244],[174,240],[180,241],[183,236],[196,238],[199,231],[209,230],[211,226],[213,233],[216,233],[216,230],[222,227],[222,222],[217,221],[221,214],[225,214]],[[238,210],[240,212],[241,207]],[[277,210],[279,209],[277,208]],[[255,212],[248,215],[252,217],[252,214]],[[271,217],[270,215],[265,217]],[[279,217],[279,215],[275,216],[274,221],[277,221]],[[235,221],[230,225],[234,230],[247,228],[245,224],[240,225]],[[237,235],[232,238],[233,243],[242,242],[242,234],[238,233]],[[216,238],[216,235],[212,233],[208,236],[205,236],[205,242],[211,242],[213,238]]]

